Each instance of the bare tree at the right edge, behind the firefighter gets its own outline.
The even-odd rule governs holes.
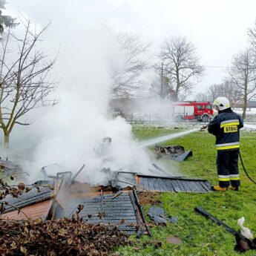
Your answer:
[[[248,101],[256,95],[256,62],[251,49],[234,56],[229,75],[240,91],[243,100],[243,118],[246,118]]]

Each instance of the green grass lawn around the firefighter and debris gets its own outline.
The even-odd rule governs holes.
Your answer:
[[[171,132],[166,128],[134,127],[134,137],[146,140]],[[256,180],[256,133],[242,131],[240,134],[241,154],[249,174]],[[177,163],[169,161],[170,169],[179,171],[187,177],[200,177],[217,184],[217,171],[215,165],[216,151],[214,137],[208,132],[196,132],[162,145],[183,145],[186,150],[193,150],[193,157]],[[143,236],[140,239],[131,237],[134,246],[120,247],[119,255],[238,255],[234,252],[235,239],[226,232],[222,226],[217,226],[211,220],[197,214],[194,207],[201,206],[224,223],[238,229],[237,219],[244,216],[246,227],[256,234],[256,185],[244,174],[240,166],[240,191],[211,192],[209,194],[194,193],[162,193],[165,214],[177,216],[177,224],[169,223],[167,226],[151,228],[152,237]],[[148,206],[144,206],[146,212]],[[183,240],[180,246],[166,242],[166,237],[174,235]],[[154,247],[153,240],[162,242],[160,248]],[[256,255],[256,251],[249,251],[243,255]]]

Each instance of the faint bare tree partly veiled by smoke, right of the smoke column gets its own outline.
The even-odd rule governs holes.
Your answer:
[[[112,94],[128,97],[140,87],[140,76],[148,68],[145,53],[150,44],[141,42],[140,36],[131,33],[119,33],[117,39],[125,61],[120,69],[114,70]]]

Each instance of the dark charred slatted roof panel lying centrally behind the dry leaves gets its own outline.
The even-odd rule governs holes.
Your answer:
[[[117,197],[115,194],[95,194],[93,197],[82,197],[68,200],[65,212],[70,217],[76,212],[79,204],[84,208],[79,216],[86,223],[106,223],[118,225],[126,234],[137,232],[137,226],[142,223],[142,217],[136,206],[136,198],[132,191],[122,191]],[[141,228],[140,228],[141,229]],[[140,232],[145,232],[141,230]]]

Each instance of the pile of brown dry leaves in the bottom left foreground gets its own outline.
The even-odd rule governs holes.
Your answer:
[[[92,225],[79,218],[0,221],[0,255],[110,255],[128,245],[117,226]]]

